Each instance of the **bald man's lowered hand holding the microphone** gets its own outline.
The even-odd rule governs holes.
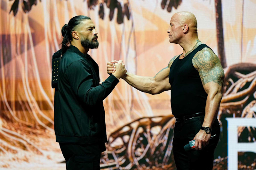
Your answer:
[[[209,144],[210,138],[211,138],[211,133],[206,134],[203,130],[199,130],[199,132],[194,137],[194,139],[196,139],[195,149],[196,150],[198,150],[198,149],[201,150],[202,145],[206,146],[207,144]]]

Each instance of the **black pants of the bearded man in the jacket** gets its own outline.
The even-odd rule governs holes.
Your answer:
[[[100,170],[100,153],[106,150],[105,144],[66,144],[60,143],[66,160],[67,170]]]

